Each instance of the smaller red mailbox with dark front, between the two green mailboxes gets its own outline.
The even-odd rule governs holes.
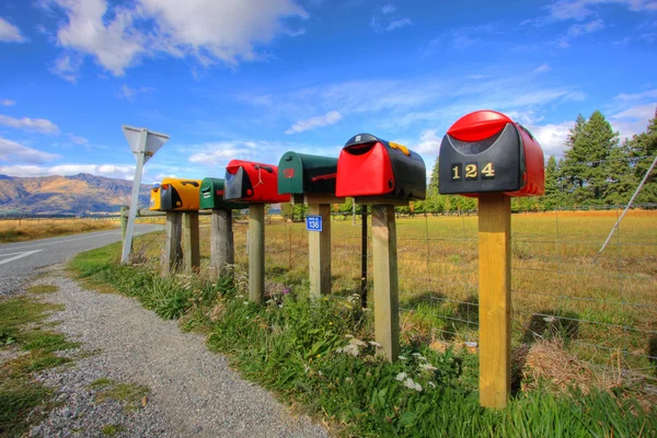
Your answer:
[[[289,203],[290,195],[278,194],[277,166],[232,160],[226,166],[223,199],[250,204],[276,204]]]

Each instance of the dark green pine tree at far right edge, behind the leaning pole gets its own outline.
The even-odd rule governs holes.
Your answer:
[[[627,149],[636,163],[634,165],[634,177],[636,184],[638,184],[650,164],[653,164],[655,155],[657,155],[657,110],[655,110],[655,118],[648,123],[646,131],[632,137],[627,141]],[[636,196],[636,203],[657,203],[657,170],[653,170],[646,180],[646,184]]]

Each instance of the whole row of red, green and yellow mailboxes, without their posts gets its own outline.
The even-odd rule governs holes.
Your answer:
[[[505,193],[535,196],[544,191],[543,151],[521,125],[494,111],[454,123],[440,145],[441,194]],[[151,192],[151,209],[241,209],[249,204],[287,203],[290,195],[426,197],[426,168],[418,153],[370,134],[351,137],[339,158],[286,152],[278,166],[232,160],[226,180],[164,178]]]

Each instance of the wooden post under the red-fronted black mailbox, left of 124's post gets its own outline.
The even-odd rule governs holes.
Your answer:
[[[400,302],[394,207],[372,205],[374,336],[389,361],[400,351]]]

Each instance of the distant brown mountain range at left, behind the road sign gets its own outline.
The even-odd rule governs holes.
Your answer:
[[[139,205],[148,206],[152,185],[141,184]],[[128,205],[132,182],[79,173],[72,176],[0,175],[0,215],[92,215]]]

